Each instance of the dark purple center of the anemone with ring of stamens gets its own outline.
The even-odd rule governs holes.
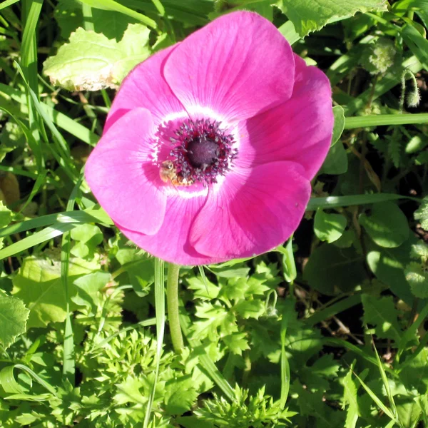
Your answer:
[[[225,175],[237,156],[233,136],[210,119],[184,121],[170,140],[178,183],[217,183],[218,175]]]

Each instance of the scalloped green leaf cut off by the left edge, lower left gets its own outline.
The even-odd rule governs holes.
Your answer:
[[[17,336],[26,332],[29,313],[22,300],[0,295],[0,342],[3,347],[9,347]]]

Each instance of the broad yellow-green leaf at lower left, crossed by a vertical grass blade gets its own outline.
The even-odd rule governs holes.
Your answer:
[[[98,263],[71,258],[68,270],[70,284],[78,276],[99,270]],[[61,282],[61,263],[30,256],[24,259],[13,279],[12,293],[29,308],[28,327],[45,327],[49,322],[66,319],[66,299]],[[70,296],[76,295],[71,287]]]

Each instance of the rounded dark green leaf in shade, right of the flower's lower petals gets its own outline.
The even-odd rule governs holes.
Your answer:
[[[407,218],[392,202],[374,204],[371,215],[362,214],[359,221],[380,247],[399,247],[409,238]]]

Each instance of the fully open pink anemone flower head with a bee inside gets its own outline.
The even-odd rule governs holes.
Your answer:
[[[262,16],[222,16],[129,73],[86,180],[136,245],[180,265],[295,231],[332,138],[330,82]]]

